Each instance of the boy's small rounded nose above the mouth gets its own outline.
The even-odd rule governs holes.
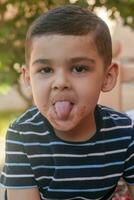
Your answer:
[[[67,76],[60,74],[59,76],[56,76],[53,84],[52,89],[54,90],[67,90],[71,89],[71,83],[68,80]]]

